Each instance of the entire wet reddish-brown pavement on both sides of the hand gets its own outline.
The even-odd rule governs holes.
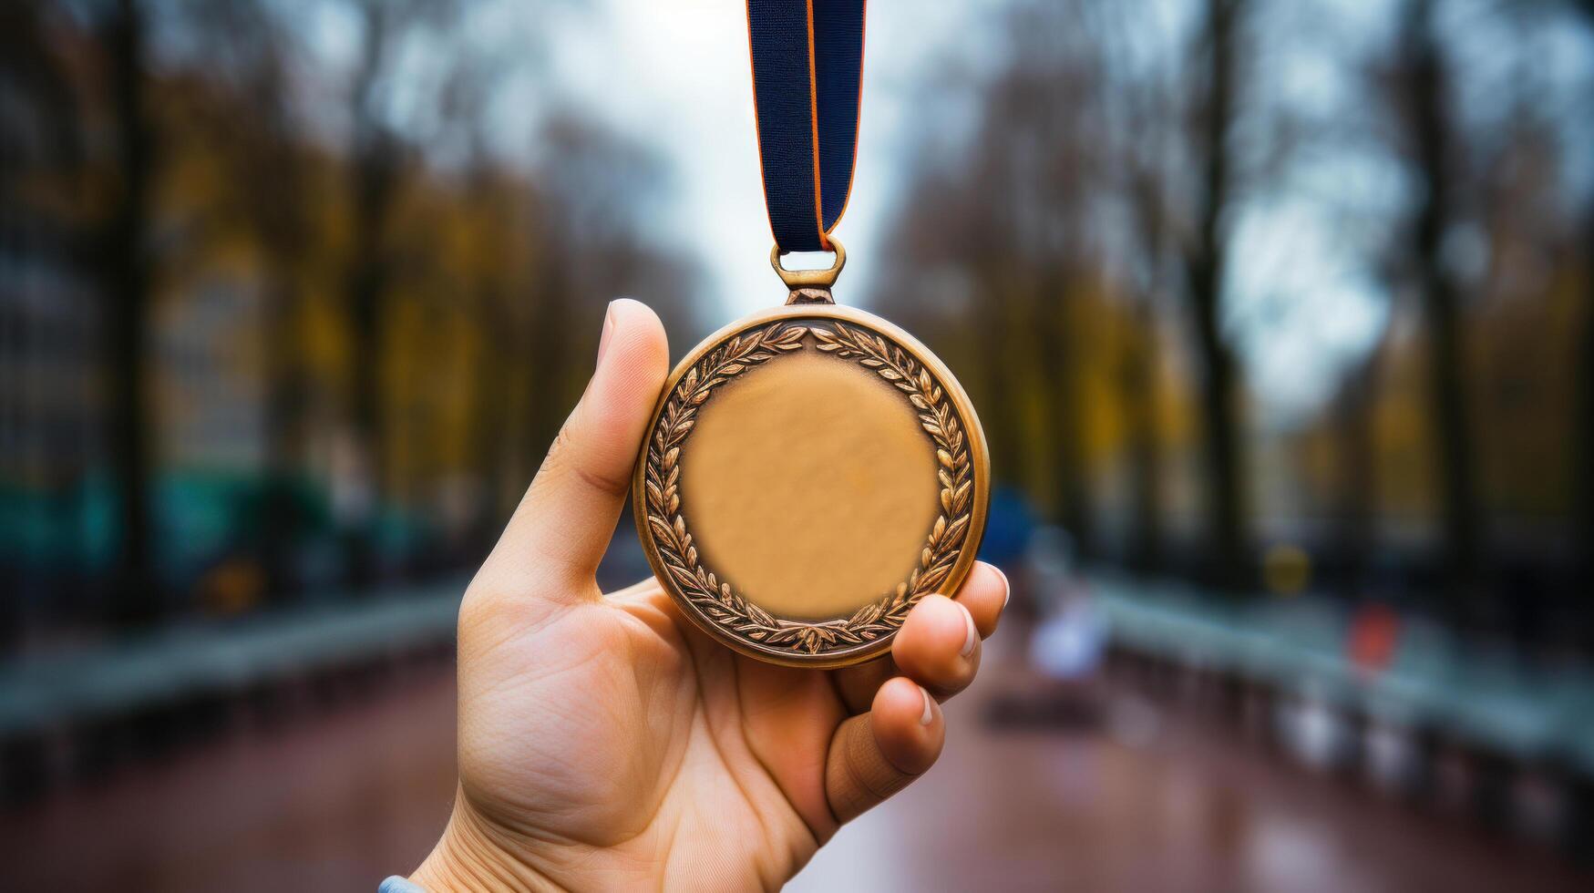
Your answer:
[[[1589,890],[1548,850],[1315,773],[1127,692],[1047,727],[993,647],[928,777],[842,834],[794,890]],[[0,813],[6,890],[375,890],[453,796],[448,662]]]

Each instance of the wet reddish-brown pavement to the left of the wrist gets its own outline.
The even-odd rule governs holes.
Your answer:
[[[453,667],[303,700],[0,813],[0,890],[375,890],[413,867],[454,794]]]

